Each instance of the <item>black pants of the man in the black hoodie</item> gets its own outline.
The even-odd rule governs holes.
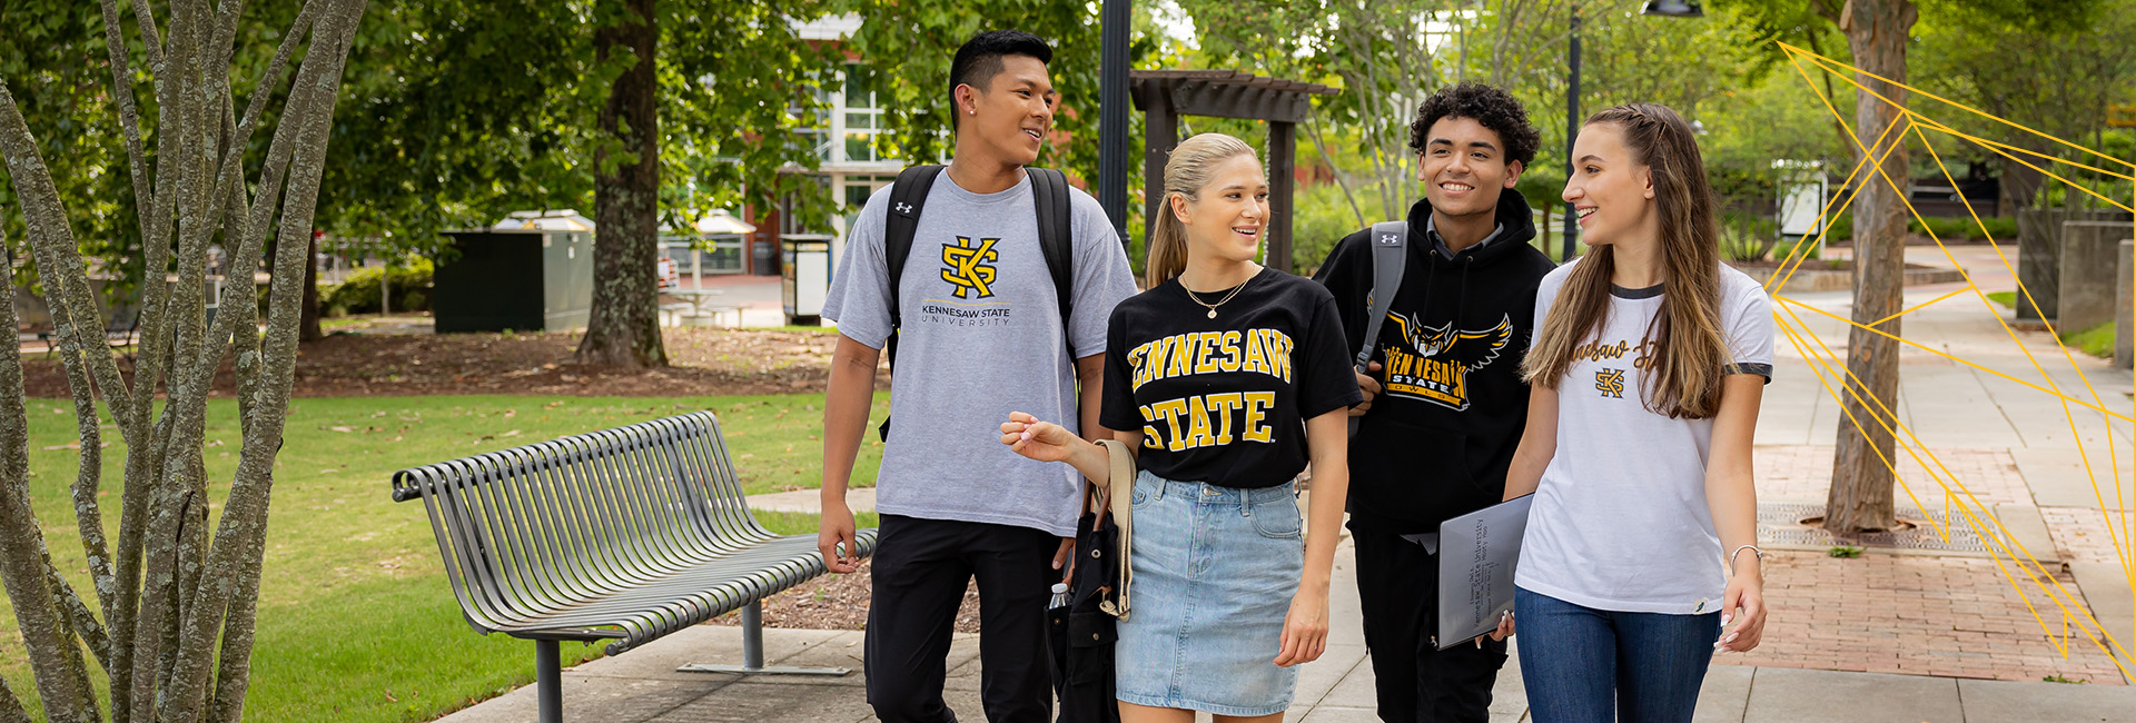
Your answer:
[[[1506,642],[1440,650],[1440,557],[1401,535],[1350,529],[1365,646],[1386,723],[1485,723]]]

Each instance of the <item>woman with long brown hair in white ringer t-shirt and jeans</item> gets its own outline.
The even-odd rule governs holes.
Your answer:
[[[1534,395],[1506,476],[1506,499],[1536,501],[1499,633],[1519,621],[1538,723],[1690,721],[1713,650],[1764,631],[1749,450],[1771,301],[1719,262],[1675,111],[1596,113],[1572,156],[1566,203],[1589,252],[1536,294]]]

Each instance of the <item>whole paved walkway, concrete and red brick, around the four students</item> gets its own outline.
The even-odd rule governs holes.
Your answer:
[[[2014,250],[2004,250],[2014,264]],[[1993,247],[1954,247],[1957,264],[1974,273],[1984,292],[2012,290]],[[1910,262],[1950,267],[1937,247],[1907,250]],[[2136,508],[2136,459],[2127,420],[2108,418],[2080,403],[2095,403],[2117,414],[2130,414],[2132,380],[2113,371],[2106,360],[2063,358],[2044,335],[2021,335],[2012,343],[1997,318],[2008,309],[1984,309],[1969,290],[1942,299],[1965,284],[1907,288],[1905,305],[1931,303],[1905,318],[1903,337],[1959,356],[1957,363],[1920,350],[1901,352],[1899,418],[1920,444],[1952,469],[1957,491],[1920,471],[1922,465],[1901,465],[1901,508],[1920,499],[1922,508],[1942,508],[1946,495],[1976,503],[2001,520],[2016,542],[2044,569],[2068,565],[2076,589],[2076,614],[2089,614],[2123,646],[2136,642],[2136,604],[2125,565],[2130,542],[2106,533],[2104,520]],[[1848,316],[1848,294],[1796,294],[1799,305],[1784,303],[1794,318],[1784,320],[1807,328],[1816,341],[1833,350],[1846,348],[1846,324],[1811,309]],[[1816,341],[1805,339],[1816,350]],[[1758,422],[1760,501],[1822,503],[1828,484],[1828,450],[1843,422],[1839,407],[1822,386],[1807,358],[1786,337],[1777,343],[1775,380],[1766,388]],[[1822,350],[1818,350],[1822,352]],[[2027,352],[2031,358],[2027,358]],[[2042,373],[2033,367],[2038,360]],[[1978,367],[1974,367],[1978,365]],[[2061,388],[2078,403],[2063,405],[2051,392],[2012,382]],[[2087,386],[2089,382],[2089,386]],[[2093,397],[2093,392],[2098,397]],[[2093,401],[2098,399],[2098,401]],[[2106,454],[2113,435],[2117,465]],[[2083,452],[2078,452],[2083,448]],[[1820,452],[1822,450],[1822,452]],[[1822,454],[1822,456],[1820,456]],[[1963,461],[1952,465],[1952,461]],[[2089,463],[2089,471],[2087,465]],[[1822,469],[1820,469],[1822,465]],[[1969,465],[1969,467],[1967,467]],[[1794,471],[1799,469],[1799,473]],[[782,493],[756,497],[752,503],[773,510],[814,512],[816,493]],[[854,508],[871,508],[871,499],[854,493]],[[1762,523],[1764,525],[1764,523]],[[1784,527],[1784,525],[1781,525]],[[1771,529],[1762,529],[1762,535]],[[1786,569],[1769,567],[1769,587],[1784,576],[1786,597],[1769,589],[1775,618],[1769,623],[1769,644],[1749,655],[1715,659],[1700,695],[1698,721],[2136,721],[2136,687],[2102,668],[2102,650],[2087,640],[2063,640],[2068,653],[2053,653],[2053,638],[2031,625],[1986,618],[1980,608],[1997,604],[2023,608],[2025,599],[1991,599],[2010,587],[1984,552],[1952,550],[1869,550],[1865,559],[1828,559],[1820,548],[1775,552],[1790,561]],[[1775,557],[1769,557],[1773,561]],[[1922,569],[1939,569],[1939,578]],[[1858,576],[1871,569],[1880,576],[1905,576],[1895,589],[1875,589]],[[1871,580],[1873,582],[1873,580]],[[1976,589],[1959,589],[1976,584]],[[1959,589],[1957,593],[1952,593]],[[1903,595],[1916,599],[1901,599]],[[1935,595],[1957,608],[1933,608]],[[1959,597],[1959,599],[1948,599]],[[1831,604],[1833,608],[1824,608]],[[1912,606],[1912,608],[1910,608]],[[1927,610],[1927,616],[1922,616]],[[1939,612],[1944,610],[1944,612]],[[1348,542],[1337,552],[1333,580],[1333,638],[1329,653],[1301,672],[1297,704],[1286,721],[1376,721],[1373,676],[1365,655],[1356,614],[1356,584]],[[1946,621],[1946,616],[1969,616]],[[1907,627],[1912,625],[1912,627]],[[1801,640],[1775,640],[1775,631]],[[637,721],[874,721],[861,670],[859,631],[788,631],[765,633],[769,659],[778,665],[844,665],[854,672],[844,678],[773,678],[677,674],[692,661],[739,661],[739,629],[703,625],[669,636],[615,659],[600,659],[566,672],[564,704],[570,721],[637,723]],[[948,702],[963,721],[980,721],[978,646],[974,636],[959,636],[951,653]],[[1984,648],[1967,648],[1980,642]],[[1912,646],[1907,646],[1912,644]],[[532,648],[532,646],[528,646]],[[1811,655],[1818,653],[1818,655]],[[2038,670],[2070,670],[2078,657],[2089,657],[2087,685],[2042,682]],[[2123,650],[2119,655],[2127,659]],[[1892,659],[1892,670],[1957,670],[1948,676],[1839,672],[1818,668],[1856,668]],[[1925,668],[1922,668],[1925,665]],[[1942,665],[1942,668],[1939,668]],[[1974,668],[1980,665],[1980,668]],[[2031,665],[2031,668],[2027,668]],[[1982,680],[2001,676],[2006,680]],[[2076,678],[2059,674],[2061,678]],[[530,721],[532,689],[519,689],[444,721]],[[1527,721],[1519,663],[1499,674],[1493,721]]]

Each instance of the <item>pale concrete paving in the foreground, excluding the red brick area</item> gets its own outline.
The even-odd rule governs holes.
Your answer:
[[[1356,612],[1348,542],[1337,552],[1331,593],[1335,629],[1329,650],[1299,674],[1286,721],[1367,723],[1373,714],[1371,661]],[[861,676],[859,631],[767,629],[771,665],[852,668],[842,678],[728,676],[675,672],[686,663],[741,661],[741,629],[698,625],[613,659],[564,674],[568,721],[598,723],[861,723],[876,721]],[[1519,640],[1519,638],[1514,638]],[[532,644],[528,646],[532,650]],[[1719,661],[1726,661],[1722,657]],[[978,636],[957,636],[944,697],[961,721],[983,721]],[[517,689],[440,723],[519,723],[534,719],[534,689]],[[2033,723],[2130,721],[2136,687],[1961,680],[1794,668],[1713,665],[1698,702],[1700,723]],[[1207,717],[1205,717],[1207,719]],[[1519,659],[1499,672],[1493,723],[1527,721]]]

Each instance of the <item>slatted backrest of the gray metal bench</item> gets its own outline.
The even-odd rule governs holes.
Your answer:
[[[476,629],[570,608],[773,537],[711,412],[402,469]]]

